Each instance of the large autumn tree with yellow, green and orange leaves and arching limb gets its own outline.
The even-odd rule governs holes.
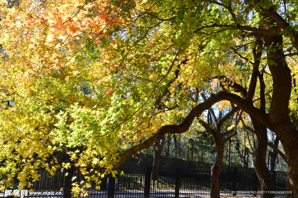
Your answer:
[[[186,132],[226,100],[251,118],[260,166],[266,128],[280,138],[298,196],[295,1],[23,0],[3,6],[1,100],[16,104],[1,107],[6,166],[0,170],[9,175],[7,184],[17,176],[20,188],[28,185],[40,166],[54,173],[59,166],[50,168],[47,159],[54,155],[57,163],[62,150],[83,174],[86,167],[96,177],[102,176],[96,167],[115,173],[130,155],[166,134]],[[231,91],[212,92],[214,79]],[[212,94],[204,102],[190,99],[201,87]],[[130,142],[136,145],[128,149]],[[83,149],[73,151],[76,146]],[[256,172],[266,189],[268,170]]]

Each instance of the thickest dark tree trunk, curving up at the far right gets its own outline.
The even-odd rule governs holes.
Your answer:
[[[282,35],[268,39],[268,66],[273,80],[272,100],[269,112],[270,129],[280,138],[287,156],[289,181],[295,197],[298,197],[298,131],[288,115],[292,91],[291,70],[285,61]]]

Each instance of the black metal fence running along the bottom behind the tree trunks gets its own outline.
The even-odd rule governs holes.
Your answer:
[[[210,197],[210,170],[123,164],[117,171],[116,177],[108,175],[102,179],[99,190],[91,182],[91,187],[86,189],[87,197]],[[123,174],[120,174],[122,171]],[[275,191],[286,191],[287,172],[269,172]],[[72,183],[86,182],[86,175],[82,175],[78,167],[57,171],[54,176],[45,170],[40,170],[39,174],[40,179],[31,181],[33,185],[27,187],[27,190],[34,191],[24,197],[70,198],[73,196]],[[260,190],[254,169],[223,166],[220,174],[221,196],[260,197]],[[237,191],[246,192],[240,194]],[[3,192],[0,196],[7,197]],[[285,197],[285,194],[275,194],[275,197]]]

